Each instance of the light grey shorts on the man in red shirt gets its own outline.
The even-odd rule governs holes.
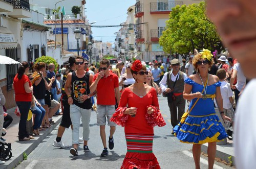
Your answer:
[[[116,123],[111,122],[110,118],[115,113],[115,105],[97,105],[97,123],[98,126],[106,125],[106,118],[108,119],[109,126],[116,126]]]

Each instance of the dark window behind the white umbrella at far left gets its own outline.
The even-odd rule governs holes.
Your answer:
[[[17,49],[6,50],[6,56],[17,60]],[[17,64],[6,65],[7,70],[7,90],[12,89],[12,83],[15,75],[17,74]]]

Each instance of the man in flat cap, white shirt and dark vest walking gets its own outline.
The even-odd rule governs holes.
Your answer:
[[[183,90],[187,75],[180,71],[180,61],[178,59],[173,59],[170,61],[170,64],[173,70],[164,74],[160,82],[160,87],[164,92],[163,94],[168,93],[167,99],[170,110],[170,122],[174,128],[180,122],[185,110],[186,102],[183,99]],[[172,131],[172,134],[174,134],[174,131]]]

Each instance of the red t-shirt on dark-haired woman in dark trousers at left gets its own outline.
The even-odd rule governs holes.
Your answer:
[[[29,87],[31,87],[31,82],[27,75],[23,75],[22,79],[18,79],[18,74],[13,79],[13,87],[15,90],[15,101],[16,102],[31,102],[32,94],[27,93],[24,84],[29,82]]]

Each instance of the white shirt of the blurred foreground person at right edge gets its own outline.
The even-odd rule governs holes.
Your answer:
[[[256,79],[252,79],[244,89],[236,109],[234,120],[234,156],[237,168],[256,166]]]

